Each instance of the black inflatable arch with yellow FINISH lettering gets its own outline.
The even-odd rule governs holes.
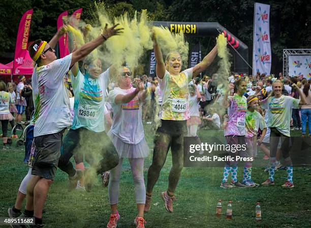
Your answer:
[[[153,25],[168,27],[171,32],[182,30],[186,36],[216,37],[224,32],[229,46],[235,49],[235,51],[232,50],[234,72],[248,73],[248,66],[245,62],[248,62],[248,47],[221,24],[217,22],[154,21]]]

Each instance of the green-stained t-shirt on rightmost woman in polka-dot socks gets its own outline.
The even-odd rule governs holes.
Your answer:
[[[261,107],[268,111],[268,126],[290,137],[292,109],[299,108],[299,99],[282,95],[278,98],[271,96],[263,100]]]

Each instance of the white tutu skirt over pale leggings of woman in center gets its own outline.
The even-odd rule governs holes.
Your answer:
[[[138,144],[129,144],[120,140],[111,133],[111,131],[109,131],[107,135],[115,146],[120,158],[144,158],[147,157],[150,152],[145,137]]]

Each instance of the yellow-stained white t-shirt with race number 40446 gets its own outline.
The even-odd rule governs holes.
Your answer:
[[[159,85],[163,91],[161,106],[161,119],[187,120],[189,115],[188,83],[191,81],[193,68],[186,69],[179,75],[165,72],[163,79],[158,77]]]

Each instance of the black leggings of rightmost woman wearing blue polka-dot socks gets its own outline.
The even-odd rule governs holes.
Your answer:
[[[290,156],[289,152],[291,149],[290,137],[283,135],[275,127],[270,127],[270,157],[276,156],[277,145],[279,139],[281,138],[282,143],[282,155],[283,158],[288,158]]]

